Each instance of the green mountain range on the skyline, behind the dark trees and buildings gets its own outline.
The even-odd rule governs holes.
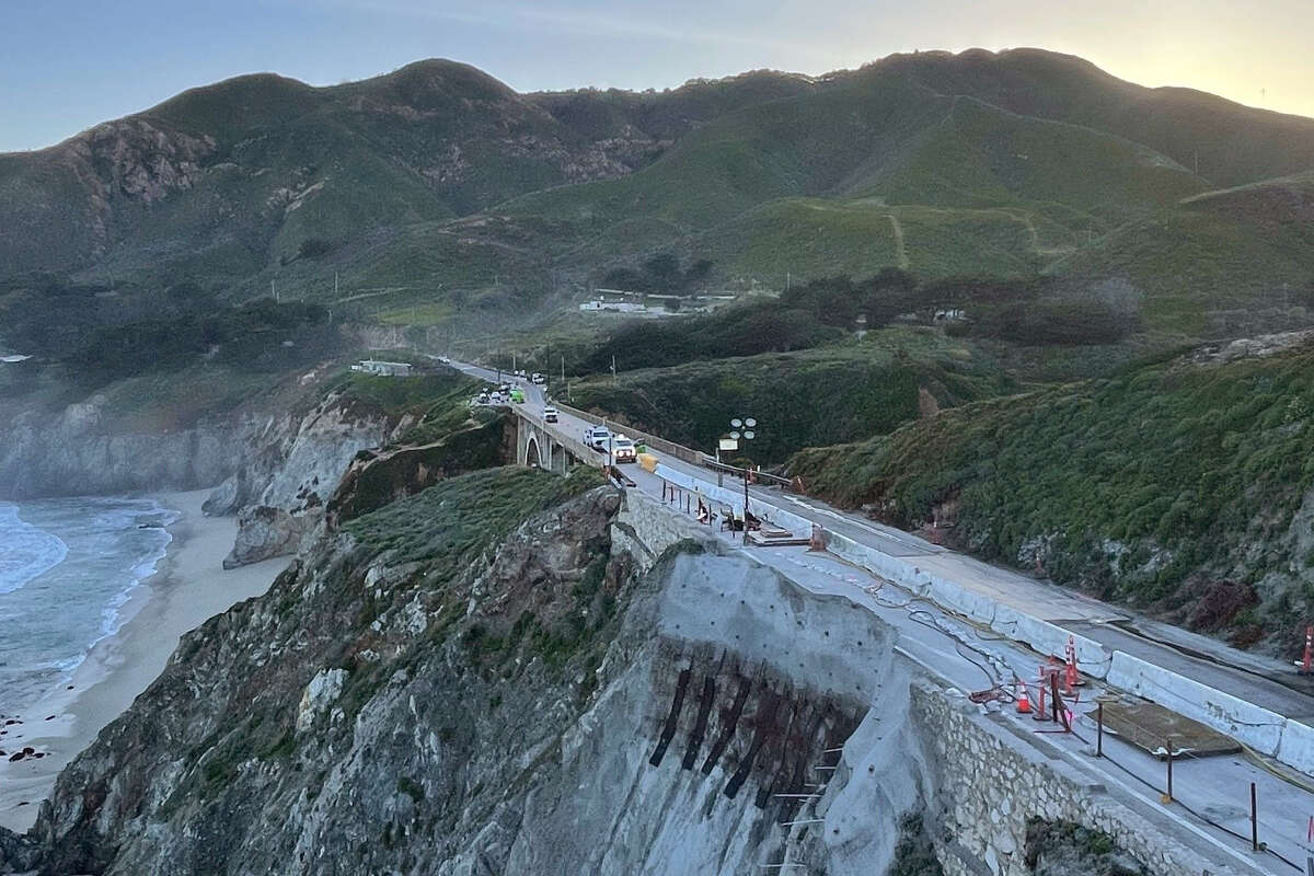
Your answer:
[[[0,226],[24,229],[0,288],[55,334],[271,285],[468,326],[670,251],[712,288],[1121,282],[1166,345],[1309,320],[1311,168],[1314,121],[1038,50],[652,93],[519,95],[443,60],[330,88],[256,75],[0,156]],[[96,297],[71,315],[70,289]]]

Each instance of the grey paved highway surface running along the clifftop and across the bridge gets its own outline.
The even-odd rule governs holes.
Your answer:
[[[495,372],[476,365],[460,362],[451,365],[490,382],[498,377]],[[547,405],[541,387],[515,381],[506,373],[502,374],[502,380],[524,386],[526,401],[523,406],[516,407],[541,416]],[[591,423],[561,411],[555,428],[557,433],[578,441],[589,426]],[[616,427],[614,431],[624,429]],[[658,456],[662,469],[678,473],[681,481],[689,478],[708,487],[715,486],[714,471],[669,456]],[[603,454],[593,460],[595,464],[603,461]],[[632,489],[658,499],[664,496],[664,481],[657,474],[639,465],[624,466],[624,473],[633,479]],[[742,491],[742,481],[727,478],[725,485]],[[1138,629],[1144,628],[1167,638],[1162,636],[1162,629],[1141,621],[1125,609],[1060,590],[1012,570],[979,562],[911,533],[832,508],[816,499],[763,487],[750,487],[750,496],[754,506],[765,503],[787,510],[892,556],[916,558],[918,566],[933,567],[938,574],[982,596],[1024,608],[1046,620],[1062,621],[1063,626],[1079,629],[1081,634],[1096,638],[1110,649],[1127,650],[1141,659],[1202,680],[1284,716],[1314,716],[1314,697],[1281,683],[1292,680],[1298,686],[1300,680],[1294,672],[1275,662],[1240,654],[1236,654],[1233,662],[1229,661],[1230,649],[1226,646],[1190,637],[1188,633],[1173,636],[1172,638],[1179,640],[1175,644],[1158,641]],[[742,504],[737,507],[741,508]],[[678,511],[673,508],[673,512]],[[710,527],[708,531],[727,545],[742,548],[738,533],[723,532],[717,527]],[[1041,655],[1025,645],[983,632],[970,621],[945,612],[925,599],[915,598],[891,582],[876,578],[866,569],[853,566],[838,557],[808,552],[804,548],[746,548],[745,550],[754,561],[779,570],[800,586],[816,592],[844,595],[879,615],[899,629],[900,650],[905,655],[963,692],[996,686],[1008,690],[1014,676],[1034,679],[1037,675]],[[1184,647],[1183,642],[1188,640],[1190,647]],[[1284,679],[1284,674],[1290,678]],[[1081,700],[1089,703],[1106,691],[1108,688],[1102,686],[1092,684],[1081,692]],[[1271,764],[1256,756],[1223,755],[1200,759],[1187,756],[1175,764],[1173,788],[1177,800],[1190,809],[1185,809],[1181,804],[1166,806],[1159,801],[1164,785],[1164,764],[1108,734],[1104,749],[1109,756],[1104,759],[1091,756],[1095,722],[1085,714],[1084,708],[1079,707],[1076,713],[1076,733],[1072,735],[1038,730],[1033,721],[1016,714],[1010,707],[999,711],[996,717],[1013,726],[1020,739],[1041,747],[1047,756],[1064,759],[1074,770],[1089,771],[1096,776],[1092,781],[1100,781],[1110,789],[1117,788],[1141,800],[1150,806],[1147,817],[1169,817],[1179,826],[1193,831],[1201,842],[1215,844],[1221,859],[1229,859],[1238,867],[1257,865],[1257,871],[1252,872],[1303,873],[1306,855],[1314,855],[1314,844],[1307,842],[1307,820],[1314,816],[1314,780],[1297,779],[1296,783],[1284,780],[1279,772],[1285,768],[1275,771],[1269,768]],[[1288,772],[1294,775],[1293,771]],[[1250,783],[1256,784],[1259,799],[1263,801],[1261,839],[1281,859],[1275,854],[1263,852],[1256,856],[1250,851],[1248,839],[1238,839],[1250,837]],[[1300,868],[1290,862],[1298,862]]]

